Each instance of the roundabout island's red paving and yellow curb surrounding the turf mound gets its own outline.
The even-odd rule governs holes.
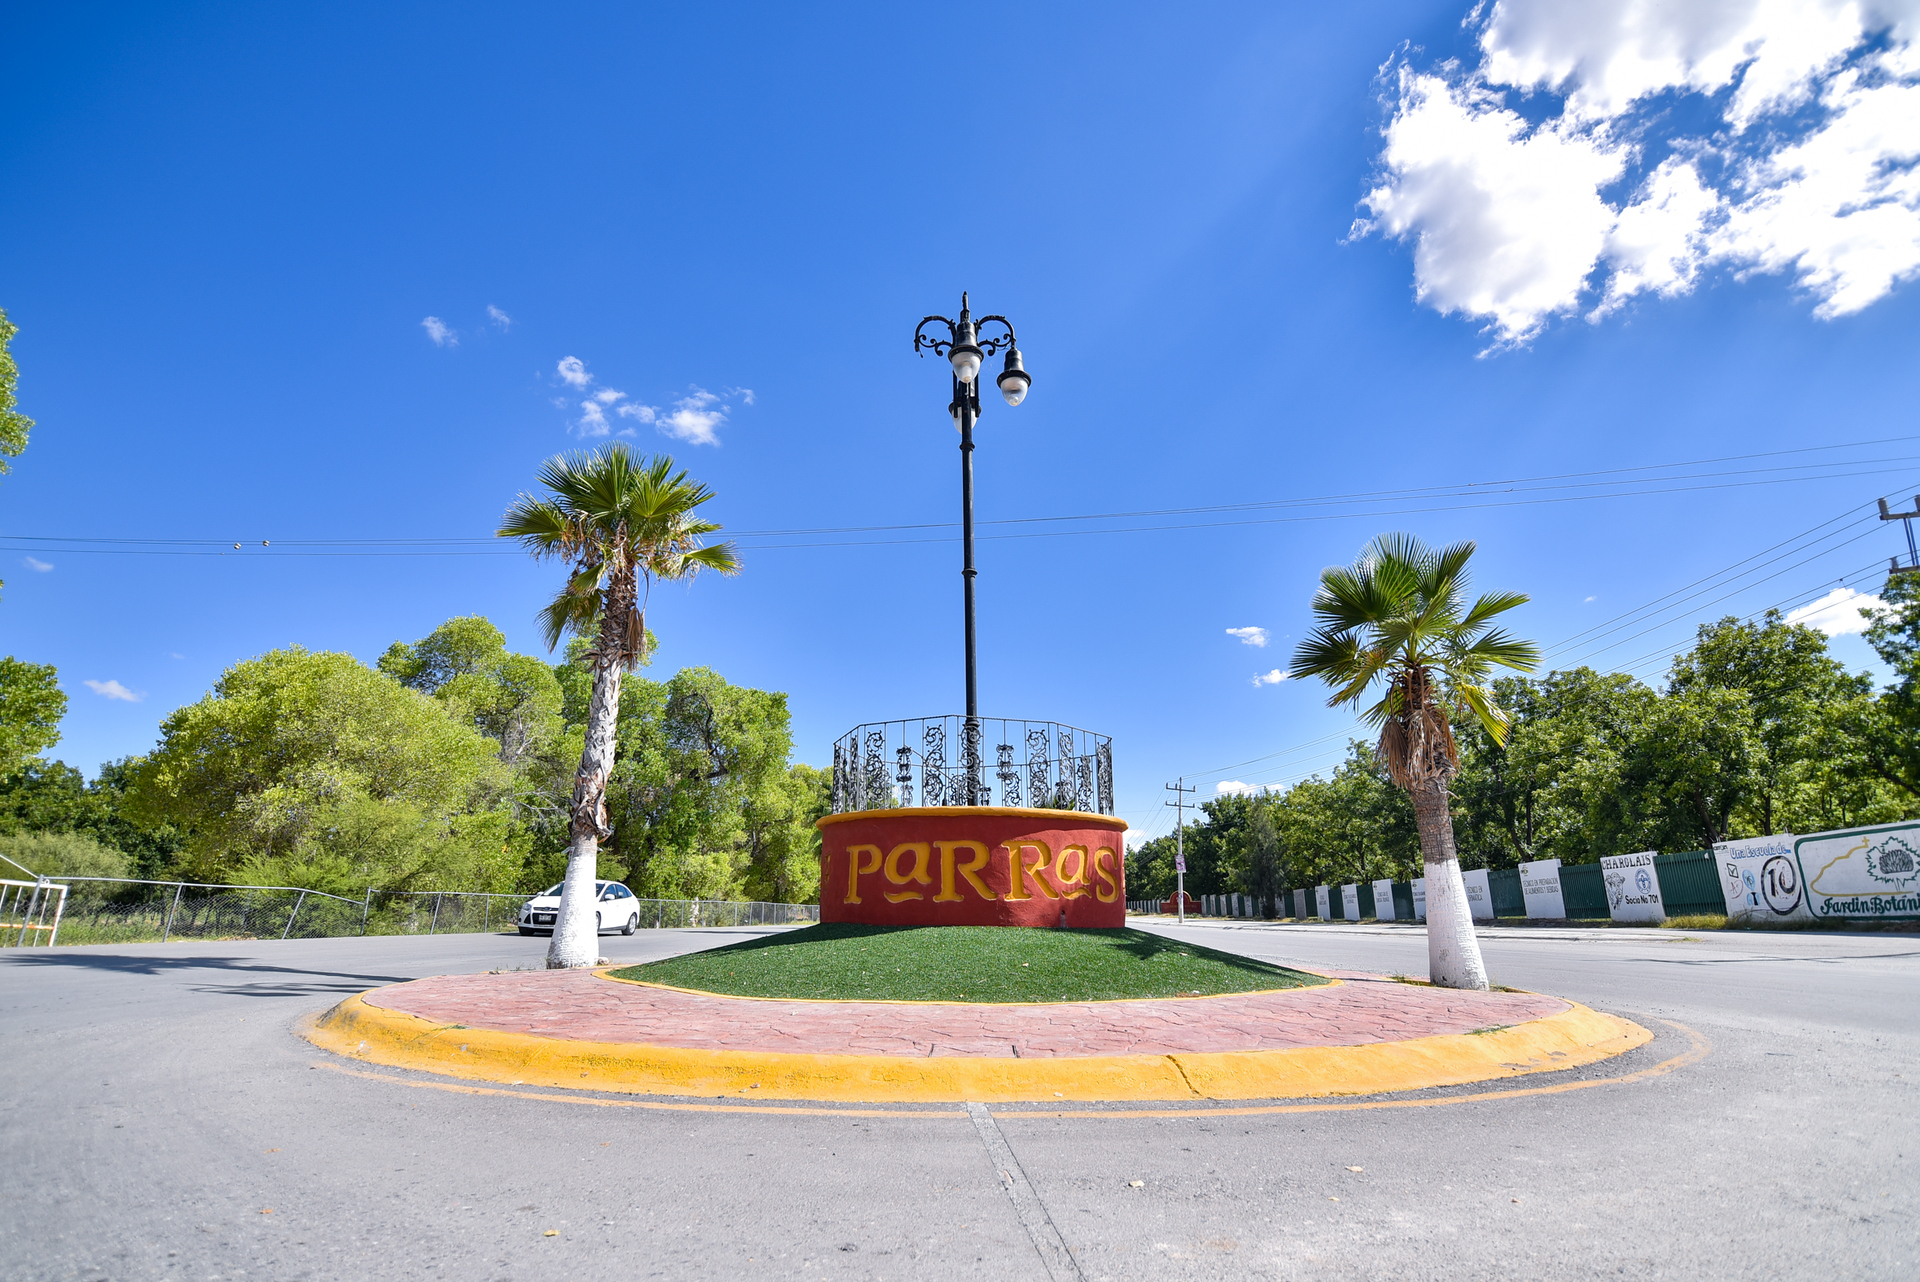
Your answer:
[[[835,927],[814,927],[799,938],[678,963],[781,952],[804,960],[810,948],[833,944],[924,950],[948,942],[941,935],[950,929],[835,938]],[[1018,958],[1044,950],[1069,960],[1135,956],[1133,935],[1156,938],[989,929],[973,956],[979,971],[954,983],[977,988],[995,967],[1033,973],[1033,962]],[[1006,942],[995,948],[993,940]],[[1135,956],[1135,965],[1152,973],[1167,952],[1183,965],[1212,960],[1196,956],[1210,952],[1198,946],[1169,946]],[[340,1002],[305,1036],[349,1059],[467,1080],[839,1104],[1377,1096],[1576,1069],[1653,1036],[1619,1015],[1553,996],[1444,990],[1363,971],[1265,965],[1213,973],[1212,986],[1238,988],[1213,994],[966,1002],[739,996],[639,979],[670,965],[390,985]],[[737,971],[745,963],[726,965]],[[1060,988],[1058,969],[1043,963],[1043,979],[1031,983]],[[1179,983],[1198,983],[1190,979],[1196,973],[1181,971]],[[743,983],[735,979],[735,986]],[[1150,983],[1165,986],[1160,977]]]

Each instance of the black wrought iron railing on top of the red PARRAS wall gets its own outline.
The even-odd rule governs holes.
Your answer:
[[[893,806],[1114,814],[1114,739],[1058,722],[924,716],[833,743],[833,814]]]

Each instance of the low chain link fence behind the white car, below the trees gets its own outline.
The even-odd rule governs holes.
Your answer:
[[[300,887],[60,877],[60,944],[171,938],[330,938],[342,935],[476,935],[513,931],[530,894],[367,890],[359,898]],[[641,929],[820,921],[816,904],[626,900]]]

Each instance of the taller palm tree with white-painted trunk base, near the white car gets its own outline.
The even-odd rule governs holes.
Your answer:
[[[547,497],[520,495],[501,518],[501,537],[540,558],[572,562],[559,595],[540,612],[551,651],[568,631],[591,635],[593,664],[588,743],[574,773],[566,881],[553,925],[547,967],[593,965],[599,956],[593,881],[607,823],[607,775],[620,722],[620,677],[647,649],[647,597],[655,580],[691,580],[701,570],[737,574],[732,543],[703,545],[720,530],[693,509],[712,491],[674,470],[666,455],[637,459],[626,445],[547,459],[540,468]]]

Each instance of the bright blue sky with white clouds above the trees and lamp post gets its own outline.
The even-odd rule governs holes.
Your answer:
[[[966,288],[1035,380],[979,430],[979,518],[1027,522],[983,526],[983,710],[1112,733],[1129,821],[1338,758],[1350,718],[1254,677],[1382,530],[1659,677],[1703,618],[1876,591],[1866,505],[1920,489],[1905,6],[1668,8],[17,12],[0,647],[60,666],[88,772],[273,647],[478,612],[534,651],[555,568],[449,541],[597,413],[732,530],[895,528],[745,534],[653,601],[657,676],[787,691],[822,762],[960,706],[910,336]]]

